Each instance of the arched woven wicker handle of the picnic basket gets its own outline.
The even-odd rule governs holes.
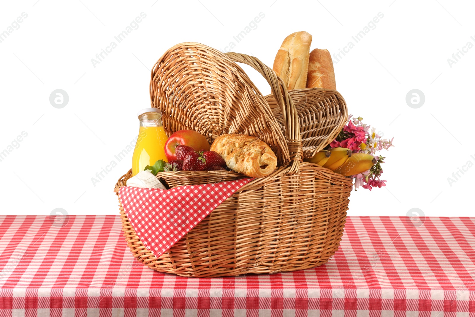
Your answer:
[[[287,146],[289,148],[291,165],[288,174],[297,173],[300,162],[303,161],[304,151],[302,145],[302,136],[300,135],[300,125],[298,121],[297,110],[294,102],[287,92],[287,88],[280,77],[277,77],[272,68],[261,62],[258,58],[239,53],[226,53],[228,58],[234,62],[247,64],[256,69],[267,80],[272,94],[275,96],[277,104],[282,109],[284,118],[285,133],[287,134]],[[251,82],[252,83],[252,82]],[[259,91],[252,83],[255,91]]]

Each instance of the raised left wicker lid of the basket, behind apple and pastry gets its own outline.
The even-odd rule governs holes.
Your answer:
[[[224,53],[199,43],[168,49],[152,68],[151,104],[161,109],[167,134],[190,129],[211,143],[221,134],[256,136],[291,161],[286,138],[264,96]]]

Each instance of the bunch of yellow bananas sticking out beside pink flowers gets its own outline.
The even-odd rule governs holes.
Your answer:
[[[376,160],[364,153],[352,153],[345,147],[334,147],[330,151],[322,150],[305,162],[315,163],[343,176],[356,175],[368,171]]]

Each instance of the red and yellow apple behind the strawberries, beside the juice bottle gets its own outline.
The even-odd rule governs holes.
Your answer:
[[[177,145],[191,146],[195,151],[209,151],[210,145],[208,140],[196,131],[180,130],[170,135],[165,143],[165,155],[168,162],[176,160],[175,147]]]

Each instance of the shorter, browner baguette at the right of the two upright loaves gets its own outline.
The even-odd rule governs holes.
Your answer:
[[[310,53],[307,88],[327,88],[336,90],[332,56],[328,50],[315,48]]]

